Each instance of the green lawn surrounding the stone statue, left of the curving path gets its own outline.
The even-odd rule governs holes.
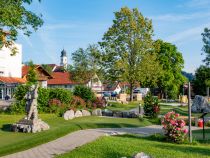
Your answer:
[[[70,132],[87,128],[139,127],[150,125],[147,120],[107,117],[81,117],[65,121],[53,114],[40,117],[50,125],[50,130],[40,133],[14,133],[10,125],[21,119],[22,115],[0,115],[0,156],[15,153],[39,144],[46,143]]]

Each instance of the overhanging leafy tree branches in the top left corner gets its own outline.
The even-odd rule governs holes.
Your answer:
[[[41,15],[38,16],[26,9],[26,5],[31,3],[32,0],[1,0],[0,48],[3,46],[10,48],[12,55],[17,53],[13,41],[17,39],[18,31],[23,31],[29,36],[32,30],[36,31],[43,24]]]

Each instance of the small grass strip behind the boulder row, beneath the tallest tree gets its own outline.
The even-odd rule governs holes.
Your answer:
[[[117,102],[109,102],[111,106],[107,106],[106,108],[112,111],[128,111],[134,109],[139,106],[140,102],[129,102],[128,104],[121,104]]]

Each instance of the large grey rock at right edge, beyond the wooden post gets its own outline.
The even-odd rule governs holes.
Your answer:
[[[192,112],[210,112],[210,104],[208,100],[200,95],[196,95],[191,107]]]

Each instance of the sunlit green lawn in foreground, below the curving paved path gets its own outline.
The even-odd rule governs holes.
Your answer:
[[[155,158],[207,158],[210,155],[209,148],[209,144],[172,144],[154,136],[121,135],[101,137],[57,158],[131,158],[138,152]]]

